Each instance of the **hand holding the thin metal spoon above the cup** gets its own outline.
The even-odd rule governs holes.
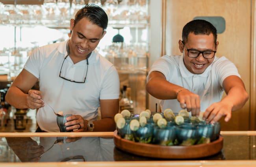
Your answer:
[[[28,108],[31,108],[32,110],[36,108],[44,107],[43,101],[41,99],[41,92],[38,90],[29,90],[28,95],[26,98],[26,103]]]

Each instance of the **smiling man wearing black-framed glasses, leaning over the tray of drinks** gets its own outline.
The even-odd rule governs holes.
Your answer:
[[[236,66],[225,57],[216,57],[216,28],[206,20],[192,20],[182,30],[181,56],[165,55],[152,65],[147,91],[160,99],[161,110],[174,113],[187,109],[192,116],[204,112],[207,123],[221,117],[229,121],[232,111],[248,100]],[[223,92],[226,97],[222,99]]]

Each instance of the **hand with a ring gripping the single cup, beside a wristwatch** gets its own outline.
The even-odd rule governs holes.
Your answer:
[[[87,121],[80,115],[73,115],[66,118],[66,130],[74,130],[74,132],[87,132]]]

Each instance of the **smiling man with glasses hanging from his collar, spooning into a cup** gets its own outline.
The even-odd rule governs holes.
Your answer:
[[[72,114],[66,130],[114,131],[119,110],[119,75],[95,48],[106,34],[108,16],[93,4],[70,20],[71,37],[33,51],[9,88],[6,101],[16,108],[38,108],[37,132],[59,132],[55,111]],[[32,90],[39,80],[40,91]],[[101,119],[98,118],[100,107]]]

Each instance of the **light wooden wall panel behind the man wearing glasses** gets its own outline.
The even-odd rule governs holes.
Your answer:
[[[166,0],[165,53],[180,55],[178,40],[183,26],[197,16],[221,16],[226,29],[218,34],[217,56],[236,64],[250,92],[251,0]],[[250,103],[236,112],[228,123],[221,120],[222,130],[249,130]],[[253,127],[254,128],[254,127]]]

